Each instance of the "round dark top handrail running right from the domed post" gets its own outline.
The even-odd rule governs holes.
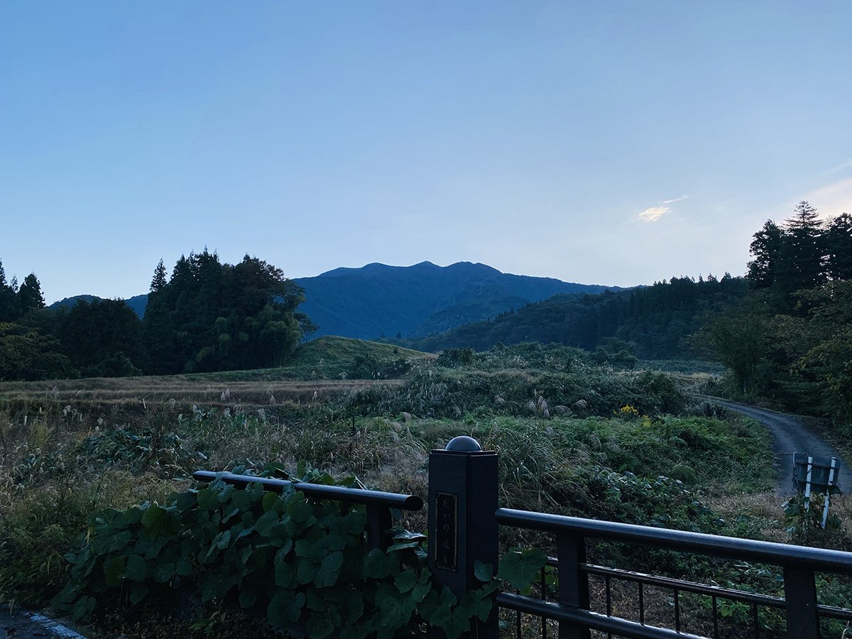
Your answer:
[[[497,510],[495,516],[498,523],[504,526],[629,542],[745,561],[763,561],[775,566],[808,567],[825,573],[852,575],[852,553],[843,552],[843,550],[826,550],[758,541],[756,539],[739,539],[707,533],[671,530],[669,528],[636,526],[617,521],[548,515],[530,510],[501,508]]]

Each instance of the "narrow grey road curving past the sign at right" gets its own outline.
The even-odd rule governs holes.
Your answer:
[[[746,417],[753,417],[772,430],[772,452],[775,458],[775,468],[778,469],[775,492],[780,496],[786,497],[796,492],[796,487],[793,486],[792,482],[794,452],[807,452],[816,457],[838,458],[838,468],[840,469],[838,485],[841,489],[843,489],[843,486],[852,486],[852,469],[849,469],[849,464],[843,460],[840,453],[829,446],[825,440],[812,433],[795,417],[780,412],[764,411],[733,401],[718,400],[715,397],[707,399],[732,411],[740,412]],[[843,492],[850,492],[849,487]]]

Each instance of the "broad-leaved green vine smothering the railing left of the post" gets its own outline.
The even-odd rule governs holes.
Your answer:
[[[337,483],[303,464],[298,475]],[[540,550],[512,552],[496,576],[477,564],[482,587],[458,601],[431,579],[423,535],[400,533],[387,552],[368,551],[365,521],[360,505],[308,499],[293,488],[280,495],[260,484],[238,489],[219,479],[173,493],[162,506],[101,510],[66,556],[72,576],[54,606],[80,619],[96,607],[168,601],[181,590],[202,602],[239,602],[275,627],[304,624],[314,639],[335,631],[341,639],[390,639],[423,623],[455,639],[473,619],[487,619],[502,580],[523,588],[546,561]]]

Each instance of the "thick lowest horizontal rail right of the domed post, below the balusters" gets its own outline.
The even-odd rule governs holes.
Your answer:
[[[554,602],[543,602],[532,597],[515,595],[509,592],[497,596],[497,605],[521,613],[532,614],[546,619],[556,619],[560,623],[576,624],[580,628],[590,628],[613,635],[625,636],[630,639],[706,639],[688,632],[676,632],[668,628],[657,628],[653,625],[642,625],[636,621],[607,617],[604,614],[592,613],[573,606],[562,606]]]

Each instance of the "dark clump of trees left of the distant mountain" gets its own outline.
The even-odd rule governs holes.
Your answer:
[[[0,380],[126,377],[281,366],[316,330],[302,288],[256,257],[223,264],[206,249],[155,269],[145,319],[122,300],[45,308],[37,277],[0,263]]]

